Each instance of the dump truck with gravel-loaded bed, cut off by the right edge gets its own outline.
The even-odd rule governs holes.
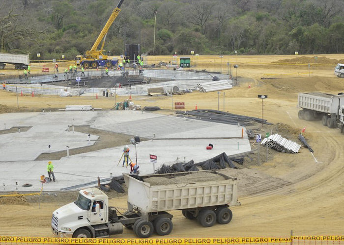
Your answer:
[[[344,94],[325,94],[320,92],[299,93],[299,119],[306,121],[322,120],[324,126],[338,127],[343,133]]]

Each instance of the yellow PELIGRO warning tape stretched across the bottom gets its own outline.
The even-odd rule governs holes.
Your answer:
[[[344,245],[344,236],[212,237],[212,238],[55,238],[0,236],[0,245]]]

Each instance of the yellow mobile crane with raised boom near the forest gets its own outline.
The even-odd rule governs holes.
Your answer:
[[[110,68],[117,64],[116,58],[113,60],[108,59],[108,55],[106,54],[106,51],[104,50],[104,44],[105,44],[106,34],[108,33],[110,26],[114,23],[116,17],[118,16],[120,12],[119,8],[122,5],[123,1],[124,0],[120,0],[118,2],[117,6],[113,10],[109,20],[107,21],[104,28],[100,32],[92,48],[86,51],[85,56],[83,55],[76,56],[76,59],[75,59],[76,65],[83,66],[84,68],[98,68],[99,66]],[[99,50],[97,50],[102,40],[103,40],[102,46]]]

